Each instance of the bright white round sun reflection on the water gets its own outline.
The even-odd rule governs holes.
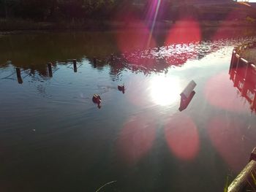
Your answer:
[[[178,101],[181,85],[178,77],[157,76],[151,80],[151,98],[159,105],[165,106]]]

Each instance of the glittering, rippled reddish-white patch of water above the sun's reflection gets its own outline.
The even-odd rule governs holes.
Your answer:
[[[240,42],[250,39],[243,38]],[[189,59],[201,59],[222,47],[236,45],[237,39],[219,39],[217,41],[190,42],[188,44],[170,45],[152,50],[138,50],[133,53],[124,53],[110,63],[110,75],[115,77],[124,69],[132,72],[165,72],[170,66],[183,66]]]

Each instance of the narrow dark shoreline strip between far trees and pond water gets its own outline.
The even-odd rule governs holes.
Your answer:
[[[146,23],[141,22],[140,23]],[[189,27],[188,23],[182,24]],[[176,25],[171,20],[162,20],[155,23],[155,28],[158,30],[169,30]],[[151,23],[150,23],[151,24]],[[256,28],[256,23],[247,23],[245,21],[225,21],[225,20],[200,20],[198,21],[200,28]],[[34,22],[31,20],[1,20],[0,19],[0,34],[19,34],[23,32],[40,32],[40,31],[118,31],[124,28],[136,29],[145,28],[146,25],[138,25],[138,23],[125,23],[123,21],[110,20],[87,20],[86,22]],[[149,28],[149,27],[148,27]]]

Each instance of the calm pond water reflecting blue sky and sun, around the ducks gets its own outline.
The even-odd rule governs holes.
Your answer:
[[[2,35],[0,190],[223,191],[256,146],[255,108],[229,72],[254,37],[205,33],[168,46],[158,34],[150,49],[124,31]]]

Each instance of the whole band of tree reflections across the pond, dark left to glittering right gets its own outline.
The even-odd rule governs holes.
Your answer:
[[[203,58],[221,47],[233,46],[238,42],[237,39],[187,42],[186,44],[151,47],[148,50],[134,50],[121,54],[116,45],[115,36],[115,32],[76,32],[74,34],[17,34],[3,37],[0,38],[0,66],[7,66],[11,60],[13,66],[31,70],[31,76],[38,73],[42,77],[46,77],[48,76],[47,64],[49,61],[56,67],[60,64],[72,65],[70,59],[76,58],[78,63],[88,59],[91,66],[98,70],[109,65],[110,75],[113,77],[124,69],[149,74],[165,72],[170,66],[182,66],[189,59]],[[159,36],[165,37],[166,34]],[[230,37],[236,36],[237,34],[230,34]],[[239,41],[244,40],[246,39],[240,38]],[[115,53],[114,59],[110,61],[112,53]],[[94,65],[94,57],[97,57],[96,65]]]

